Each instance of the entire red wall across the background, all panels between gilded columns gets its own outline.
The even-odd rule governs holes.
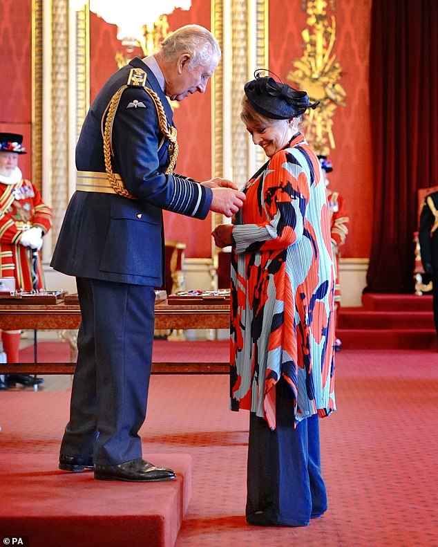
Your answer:
[[[341,84],[346,106],[334,118],[336,148],[331,186],[345,196],[350,210],[350,236],[344,257],[368,257],[372,221],[372,158],[369,122],[368,51],[372,0],[336,0],[337,36],[334,53],[341,64]],[[269,0],[270,68],[285,79],[302,55],[301,30],[305,28],[302,0]],[[330,3],[329,3],[330,6]],[[169,16],[171,29],[187,23],[210,27],[210,2],[192,0],[189,11]],[[31,149],[31,1],[0,1],[0,131],[22,133]],[[91,14],[91,99],[116,69],[120,50],[115,27]],[[187,98],[175,111],[180,156],[177,171],[199,180],[211,176],[210,93]],[[30,176],[30,154],[21,156],[23,173]],[[210,255],[210,222],[165,213],[166,237],[187,243],[188,257]],[[196,238],[194,235],[196,234]],[[196,243],[195,243],[196,240]]]

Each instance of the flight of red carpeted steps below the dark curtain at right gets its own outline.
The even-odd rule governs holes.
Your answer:
[[[436,349],[432,297],[372,295],[363,307],[339,310],[343,349]]]

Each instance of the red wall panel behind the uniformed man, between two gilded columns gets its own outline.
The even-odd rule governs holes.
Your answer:
[[[210,3],[192,0],[190,10],[175,10],[168,17],[169,30],[186,24],[210,28]],[[102,84],[117,70],[114,56],[122,50],[117,41],[117,28],[91,13],[90,17],[91,100]],[[141,50],[133,55],[142,57]],[[211,108],[210,92],[189,96],[175,109],[174,121],[178,129],[180,153],[175,171],[197,180],[211,178]],[[177,239],[187,245],[187,257],[209,257],[211,254],[211,221],[198,221],[178,214],[164,212],[166,239]]]

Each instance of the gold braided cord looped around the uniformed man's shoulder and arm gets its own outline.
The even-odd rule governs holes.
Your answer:
[[[113,132],[113,122],[114,122],[115,112],[117,111],[117,106],[119,105],[120,98],[122,96],[123,91],[126,89],[126,87],[128,86],[126,85],[122,86],[120,89],[118,89],[115,92],[108,106],[108,115],[106,116],[105,130],[104,130],[105,170],[106,170],[106,175],[108,176],[108,180],[116,194],[119,194],[120,196],[123,196],[124,198],[137,199],[135,198],[135,196],[130,194],[128,190],[124,187],[122,180],[119,181],[117,180],[117,178],[115,178],[113,167],[111,165],[111,156],[113,152],[111,147],[111,134]],[[157,93],[155,93],[155,91],[152,91],[152,89],[149,89],[148,87],[143,87],[143,89],[151,97],[151,99],[153,100],[153,104],[155,104],[155,109],[157,110],[157,114],[158,114],[158,124],[160,127],[160,131],[169,140],[170,162],[168,167],[166,168],[166,171],[164,171],[166,175],[169,175],[173,171],[173,168],[175,167],[175,164],[176,164],[176,158],[178,157],[178,142],[176,140],[176,135],[177,135],[176,127],[173,127],[171,125],[168,126],[166,113],[164,112],[162,102],[160,101],[160,98],[158,97]]]

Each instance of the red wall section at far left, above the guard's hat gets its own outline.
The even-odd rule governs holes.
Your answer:
[[[0,131],[20,133],[32,142],[32,6],[30,0],[0,2]],[[20,156],[23,176],[32,174],[31,154]]]

